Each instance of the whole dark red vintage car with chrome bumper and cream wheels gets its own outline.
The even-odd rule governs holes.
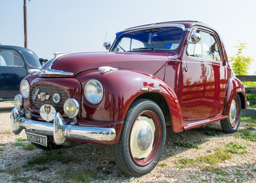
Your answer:
[[[60,53],[20,84],[15,134],[50,150],[71,142],[111,144],[132,176],[161,158],[166,125],[181,132],[214,121],[236,132],[247,108],[221,37],[197,21],[144,25],[116,33],[109,52]]]

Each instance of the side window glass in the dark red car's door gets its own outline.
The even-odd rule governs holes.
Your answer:
[[[221,61],[219,45],[214,35],[198,29],[195,31],[200,33],[201,40],[196,44],[188,44],[188,55],[201,59]]]

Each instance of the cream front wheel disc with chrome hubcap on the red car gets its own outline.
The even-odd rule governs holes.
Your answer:
[[[130,136],[132,156],[143,159],[150,155],[155,137],[155,124],[151,118],[140,116],[133,124]]]

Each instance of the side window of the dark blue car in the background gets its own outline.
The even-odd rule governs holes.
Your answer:
[[[0,50],[0,66],[23,66],[22,58],[16,51]]]

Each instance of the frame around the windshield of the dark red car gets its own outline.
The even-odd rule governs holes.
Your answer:
[[[190,31],[190,28],[185,28],[185,26],[183,24],[165,24],[165,25],[151,25],[151,26],[147,26],[147,27],[144,27],[144,28],[137,28],[137,29],[132,29],[132,30],[127,30],[127,31],[123,31],[121,34],[120,32],[116,33],[116,38],[113,42],[113,44],[111,45],[111,48],[109,50],[109,52],[114,52],[113,49],[115,48],[115,45],[118,44],[118,41],[119,41],[119,38],[123,35],[125,35],[126,33],[131,33],[131,32],[137,32],[137,31],[143,31],[143,30],[148,30],[148,29],[156,29],[156,28],[170,28],[170,27],[174,27],[174,28],[180,28],[183,30],[183,35],[182,37],[180,38],[180,41],[179,41],[179,45],[178,47],[175,49],[177,50],[179,47],[180,47],[180,43],[182,42],[183,40],[183,37],[184,37],[184,33],[185,31]],[[162,50],[162,51],[175,51],[175,50],[169,50],[169,49],[154,49],[152,51],[157,51],[157,50]],[[143,50],[131,50],[131,51],[127,51],[127,52],[137,52],[137,51],[148,51],[147,49]]]

